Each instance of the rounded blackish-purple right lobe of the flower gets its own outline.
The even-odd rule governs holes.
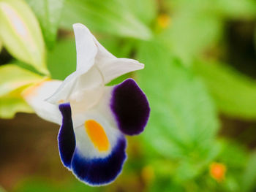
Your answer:
[[[135,80],[127,79],[113,88],[110,109],[118,128],[127,135],[140,134],[148,122],[150,107]]]

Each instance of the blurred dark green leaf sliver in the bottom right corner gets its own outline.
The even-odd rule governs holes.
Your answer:
[[[256,152],[252,153],[246,164],[246,169],[242,179],[242,191],[253,191],[256,188]]]

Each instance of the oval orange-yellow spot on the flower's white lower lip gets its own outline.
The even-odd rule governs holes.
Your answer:
[[[94,147],[97,147],[100,152],[107,151],[110,147],[110,142],[104,128],[95,120],[86,120],[84,126]]]

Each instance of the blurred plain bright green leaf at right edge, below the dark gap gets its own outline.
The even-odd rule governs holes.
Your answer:
[[[225,115],[252,120],[256,118],[256,82],[234,69],[216,62],[197,61],[195,72],[208,87],[217,107]]]

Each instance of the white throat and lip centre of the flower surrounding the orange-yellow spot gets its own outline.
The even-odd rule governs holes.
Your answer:
[[[122,137],[121,131],[118,130],[116,120],[111,114],[109,107],[110,93],[112,89],[112,87],[105,87],[100,101],[90,110],[85,108],[78,109],[78,105],[71,103],[72,121],[77,147],[80,150],[80,153],[86,158],[104,158],[108,156],[113,147],[116,147],[118,139]],[[83,104],[83,101],[80,101],[79,103]],[[108,151],[99,152],[97,147],[94,147],[93,142],[91,142],[91,139],[85,130],[84,123],[86,120],[95,120],[102,126],[110,143],[110,149]]]

